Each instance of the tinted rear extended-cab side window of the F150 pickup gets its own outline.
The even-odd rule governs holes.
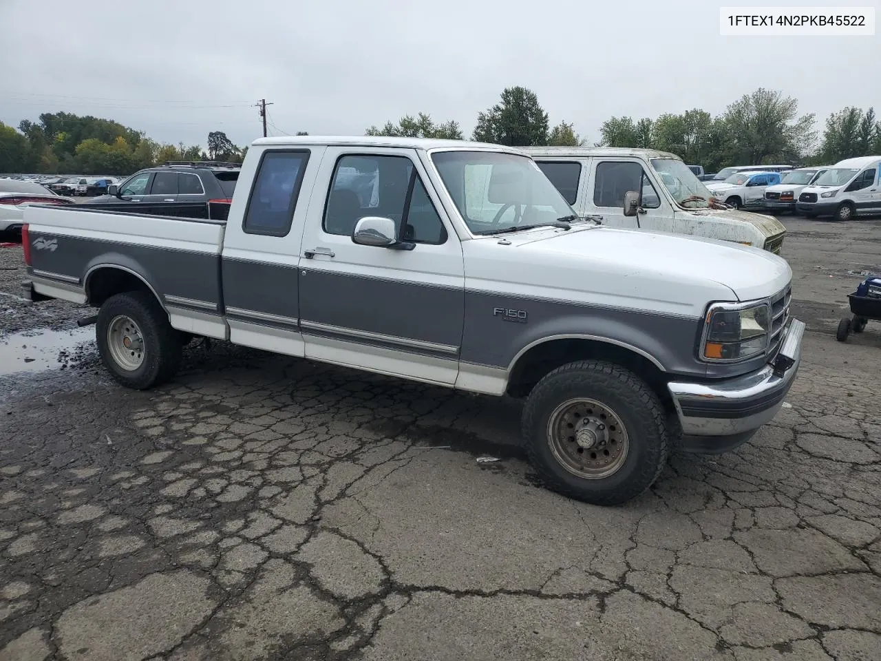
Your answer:
[[[245,234],[286,236],[291,231],[308,160],[307,151],[263,153],[242,225]]]

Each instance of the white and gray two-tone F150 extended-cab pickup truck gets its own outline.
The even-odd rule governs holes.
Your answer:
[[[99,308],[125,386],[204,336],[523,397],[544,483],[596,504],[750,439],[801,360],[781,257],[580,218],[500,145],[262,138],[226,221],[30,206],[23,241],[27,295]]]

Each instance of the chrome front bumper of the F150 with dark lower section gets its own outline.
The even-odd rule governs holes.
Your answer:
[[[780,350],[765,367],[718,382],[670,382],[682,426],[682,449],[719,454],[751,439],[774,420],[802,360],[804,323],[792,319]]]

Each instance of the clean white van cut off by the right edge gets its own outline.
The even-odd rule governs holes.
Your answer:
[[[879,165],[881,156],[840,160],[802,190],[796,210],[808,218],[832,216],[836,220],[881,214]]]

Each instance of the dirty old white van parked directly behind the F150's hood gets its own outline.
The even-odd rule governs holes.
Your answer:
[[[692,234],[780,254],[786,227],[778,219],[711,205],[703,182],[676,154],[626,147],[517,147],[581,216],[603,225]],[[635,211],[625,194],[640,191]]]

